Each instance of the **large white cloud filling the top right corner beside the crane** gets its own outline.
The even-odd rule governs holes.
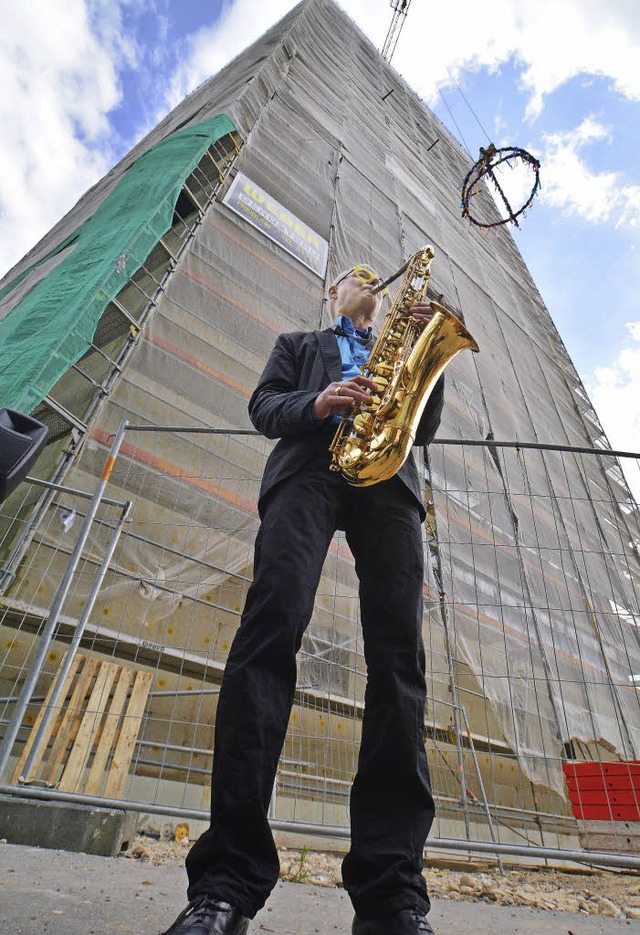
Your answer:
[[[348,0],[344,5],[362,14],[358,22],[376,41],[366,12],[374,4]],[[530,96],[527,116],[533,119],[546,95],[581,74],[609,78],[614,90],[640,100],[639,55],[637,0],[494,0],[481,14],[474,0],[458,0],[414,3],[394,64],[401,61],[407,80],[433,102],[437,88],[462,69],[497,69],[516,59]]]

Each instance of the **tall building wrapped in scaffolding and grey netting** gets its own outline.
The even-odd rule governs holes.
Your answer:
[[[204,817],[271,447],[248,398],[277,334],[330,324],[337,271],[391,272],[430,243],[431,292],[481,348],[447,369],[421,464],[434,836],[625,849],[640,818],[638,510],[509,231],[462,218],[470,168],[353,22],[303,0],[0,284],[0,403],[49,429],[1,507],[4,791]],[[338,535],[276,827],[348,833],[365,678]],[[626,798],[572,808],[585,761],[622,770]]]

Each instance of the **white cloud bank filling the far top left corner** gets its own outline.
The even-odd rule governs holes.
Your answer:
[[[107,114],[120,99],[117,3],[6,4],[0,33],[0,274],[112,163]]]

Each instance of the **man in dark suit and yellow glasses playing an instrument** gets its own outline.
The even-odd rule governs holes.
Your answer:
[[[187,857],[189,906],[165,935],[244,935],[279,872],[267,811],[309,623],[336,529],[360,582],[367,687],[351,790],[351,849],[343,881],[353,935],[429,935],[422,853],[434,805],[424,748],[422,643],[425,508],[412,455],[389,480],[351,486],[329,470],[343,413],[368,404],[360,374],[373,344],[380,283],[358,264],[331,285],[335,324],[280,335],[249,403],[253,424],[278,438],[259,497],[254,579],[224,673],[216,720],[211,826]],[[431,306],[411,308],[420,327]],[[415,444],[435,435],[437,381]]]

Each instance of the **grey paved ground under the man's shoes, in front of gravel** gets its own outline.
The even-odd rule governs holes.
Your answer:
[[[0,844],[1,935],[158,935],[185,903],[185,874],[123,857]],[[349,935],[343,890],[279,883],[250,935]],[[435,900],[436,935],[622,935],[637,921]]]

